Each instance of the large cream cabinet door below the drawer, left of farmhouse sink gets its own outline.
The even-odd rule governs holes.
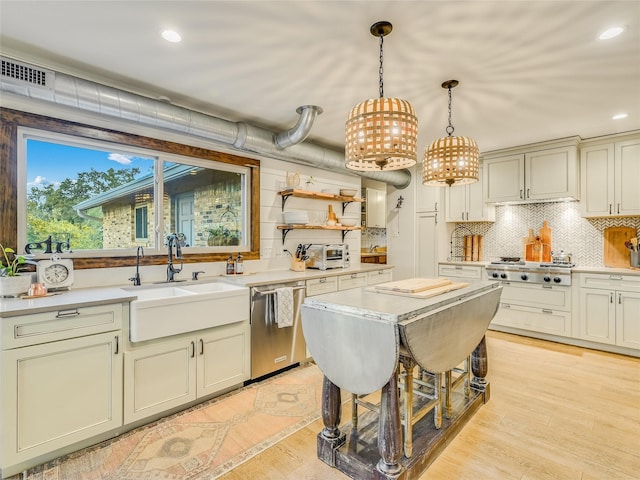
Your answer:
[[[2,463],[122,425],[122,354],[102,333],[2,352]]]

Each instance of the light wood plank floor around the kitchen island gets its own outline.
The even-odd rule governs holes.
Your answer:
[[[640,359],[487,339],[491,399],[419,480],[640,478]],[[321,429],[318,420],[221,479],[347,479],[316,458]]]

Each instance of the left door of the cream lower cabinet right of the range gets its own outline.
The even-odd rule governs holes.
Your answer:
[[[584,340],[615,344],[616,311],[613,290],[580,289],[579,335]]]

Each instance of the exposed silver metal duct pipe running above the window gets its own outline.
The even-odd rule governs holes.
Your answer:
[[[296,110],[300,118],[295,127],[287,132],[273,132],[243,122],[231,122],[222,118],[205,115],[183,107],[143,97],[116,88],[83,80],[70,75],[51,72],[22,62],[2,58],[12,67],[35,70],[49,74],[53,85],[33,84],[21,78],[0,76],[0,92],[9,92],[48,101],[66,107],[98,113],[109,117],[137,122],[144,125],[193,135],[236,149],[254,152],[262,156],[307,165],[323,170],[358,175],[387,183],[398,189],[406,188],[411,182],[408,170],[387,172],[354,172],[344,166],[344,152],[331,150],[302,142],[309,134],[320,107],[303,106]],[[3,69],[14,71],[15,69]],[[52,75],[53,74],[53,75]],[[36,75],[38,76],[38,75]],[[31,77],[28,76],[27,78]]]

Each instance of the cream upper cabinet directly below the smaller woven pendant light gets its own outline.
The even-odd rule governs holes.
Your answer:
[[[480,165],[476,183],[437,188],[446,188],[446,222],[493,222],[495,220],[495,207],[487,204],[485,195],[487,181],[483,165]]]

